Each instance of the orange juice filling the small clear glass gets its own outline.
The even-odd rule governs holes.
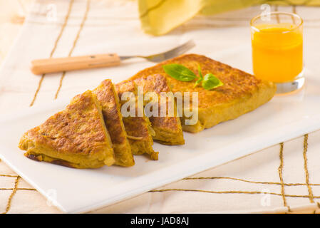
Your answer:
[[[252,31],[254,75],[267,81],[294,81],[303,70],[302,28],[293,24],[259,24]]]

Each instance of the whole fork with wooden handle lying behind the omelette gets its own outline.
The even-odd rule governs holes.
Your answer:
[[[118,66],[121,61],[129,58],[145,58],[148,61],[159,63],[182,53],[189,51],[195,46],[190,40],[169,51],[158,53],[151,56],[118,56],[116,53],[98,54],[91,56],[75,56],[66,58],[43,58],[31,61],[31,71],[40,75],[43,73],[54,73],[61,71],[74,71],[88,68],[100,68],[106,66]]]

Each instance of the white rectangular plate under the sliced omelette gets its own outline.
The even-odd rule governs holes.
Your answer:
[[[21,135],[62,110],[68,100],[2,116],[0,157],[45,197],[54,197],[63,212],[88,212],[318,130],[320,77],[306,76],[308,83],[299,93],[276,96],[251,113],[201,133],[185,133],[185,145],[155,143],[158,161],[135,156],[134,167],[76,170],[24,157],[17,147]]]

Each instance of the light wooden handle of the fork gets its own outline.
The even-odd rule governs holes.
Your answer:
[[[105,66],[117,66],[119,64],[120,58],[115,53],[67,58],[46,58],[31,61],[31,71],[34,74],[43,74]]]

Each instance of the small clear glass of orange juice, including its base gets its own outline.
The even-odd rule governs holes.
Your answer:
[[[301,17],[271,12],[255,16],[250,25],[254,75],[277,83],[277,93],[289,93],[304,86]]]

